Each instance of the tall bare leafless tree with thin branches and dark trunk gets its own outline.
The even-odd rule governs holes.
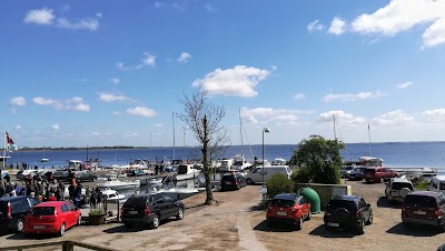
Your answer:
[[[226,116],[222,106],[216,106],[208,101],[207,91],[199,89],[190,97],[184,94],[178,98],[184,104],[184,112],[178,113],[180,120],[190,129],[196,140],[201,144],[204,175],[206,180],[206,204],[214,203],[210,174],[211,161],[224,150],[229,141],[227,130],[220,126]]]

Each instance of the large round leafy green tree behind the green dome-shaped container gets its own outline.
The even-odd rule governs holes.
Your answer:
[[[343,148],[344,144],[337,140],[326,140],[320,135],[310,135],[301,140],[289,161],[290,164],[299,167],[293,174],[293,180],[299,183],[339,183],[338,171],[342,167],[339,149]]]

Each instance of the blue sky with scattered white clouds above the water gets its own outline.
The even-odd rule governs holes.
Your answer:
[[[233,145],[445,140],[445,0],[0,4],[18,147],[195,147],[176,114],[200,88]]]

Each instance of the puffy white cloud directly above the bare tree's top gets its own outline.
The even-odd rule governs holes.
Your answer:
[[[210,96],[255,97],[258,94],[255,87],[270,72],[258,68],[236,66],[234,69],[216,69],[207,73],[204,79],[192,82],[194,87],[205,88]]]

